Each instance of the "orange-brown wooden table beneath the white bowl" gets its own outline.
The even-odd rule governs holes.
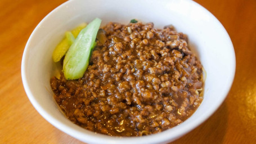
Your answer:
[[[0,1],[0,143],[82,143],[44,120],[21,82],[21,57],[29,35],[64,1]],[[221,107],[173,143],[256,143],[256,1],[196,2],[212,12],[230,35],[236,75]]]

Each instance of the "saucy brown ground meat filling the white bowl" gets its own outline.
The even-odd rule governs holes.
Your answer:
[[[104,26],[83,78],[51,78],[55,100],[75,124],[110,136],[172,128],[201,104],[202,65],[173,26]],[[102,37],[102,35],[101,35]]]

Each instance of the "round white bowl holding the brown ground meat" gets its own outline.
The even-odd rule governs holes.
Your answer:
[[[172,24],[188,35],[207,73],[204,100],[185,122],[167,131],[143,137],[111,137],[96,134],[70,122],[53,99],[50,78],[56,73],[52,52],[70,30],[99,17],[128,24],[131,19],[154,22],[156,28]],[[26,44],[21,64],[26,94],[44,119],[61,131],[87,143],[167,143],[203,123],[222,104],[235,75],[235,52],[227,31],[205,8],[190,0],[68,1],[37,25]],[[220,119],[221,120],[221,119]]]

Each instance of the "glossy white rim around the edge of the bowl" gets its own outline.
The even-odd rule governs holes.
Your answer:
[[[194,1],[191,1],[191,0],[183,0],[183,1],[189,2],[191,4],[195,4],[197,7],[201,8],[206,13],[208,13],[208,15],[213,17],[213,19],[218,23],[218,25],[221,26],[222,31],[226,34],[226,37],[229,38],[230,49],[232,51],[231,58],[233,59],[233,64],[231,66],[232,70],[231,70],[231,73],[230,73],[231,74],[231,77],[230,77],[231,79],[230,79],[230,82],[228,83],[228,86],[226,86],[227,91],[224,93],[223,97],[220,98],[218,102],[216,102],[216,105],[214,106],[213,109],[210,110],[210,113],[205,114],[203,116],[203,118],[197,119],[197,121],[194,121],[189,127],[186,127],[186,128],[185,127],[179,127],[179,131],[177,131],[176,133],[172,133],[173,134],[171,136],[172,140],[176,140],[177,138],[183,136],[183,134],[186,134],[186,133],[192,131],[192,129],[196,128],[198,125],[200,125],[205,120],[207,120],[214,113],[214,111],[216,111],[218,109],[218,107],[223,103],[223,101],[226,98],[228,92],[230,91],[230,88],[231,88],[232,83],[233,83],[233,79],[235,77],[235,69],[236,69],[236,58],[235,58],[235,51],[233,49],[233,44],[231,42],[231,39],[230,39],[226,29],[224,29],[221,22],[219,22],[219,20],[212,13],[210,13],[208,10],[206,10],[206,8],[204,8],[200,4],[198,4]],[[98,143],[98,142],[104,142],[104,143],[132,143],[132,142],[134,142],[134,143],[159,143],[160,142],[160,143],[164,143],[164,142],[168,142],[170,140],[170,137],[168,137],[169,136],[168,130],[163,131],[161,133],[151,134],[149,136],[143,136],[143,137],[107,136],[107,135],[99,134],[99,133],[96,134],[96,133],[93,133],[91,131],[88,132],[88,133],[83,133],[83,132],[77,131],[77,130],[69,127],[68,125],[65,125],[64,123],[60,122],[59,120],[56,120],[55,118],[53,118],[50,114],[47,113],[46,110],[44,110],[44,108],[41,105],[38,104],[37,100],[35,100],[32,92],[30,91],[30,88],[29,88],[29,85],[28,85],[28,77],[27,77],[28,75],[26,74],[26,68],[27,68],[26,65],[28,63],[27,61],[28,61],[29,45],[32,41],[32,38],[33,38],[34,34],[39,29],[39,27],[42,25],[42,23],[47,19],[47,17],[50,16],[52,13],[58,11],[59,8],[64,7],[64,6],[68,5],[71,2],[72,1],[66,1],[66,2],[60,4],[60,6],[56,7],[50,13],[48,13],[39,22],[39,24],[35,27],[35,29],[33,30],[32,34],[30,35],[30,37],[28,39],[28,42],[26,43],[25,50],[24,50],[24,53],[23,53],[23,58],[22,58],[22,61],[21,61],[21,78],[22,78],[22,81],[23,81],[23,86],[24,86],[26,95],[28,96],[32,105],[35,107],[35,109],[38,111],[38,113],[41,114],[43,116],[43,118],[46,119],[49,123],[51,123],[53,126],[60,129],[62,132],[67,133],[70,136],[73,136],[73,137],[75,137],[75,138],[77,138],[78,140],[81,140],[81,141],[84,141],[84,140],[87,139],[86,142],[92,142],[92,143]],[[185,122],[183,122],[183,123],[185,123]],[[173,127],[172,129],[177,129],[178,126]]]

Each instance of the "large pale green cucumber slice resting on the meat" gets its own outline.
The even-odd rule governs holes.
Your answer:
[[[66,79],[79,79],[83,77],[89,64],[90,52],[93,49],[101,19],[96,18],[78,34],[75,42],[66,53],[63,71]]]

